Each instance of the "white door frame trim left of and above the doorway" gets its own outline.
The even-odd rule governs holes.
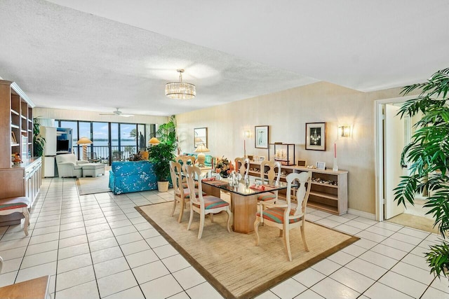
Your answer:
[[[402,103],[413,99],[416,95],[394,97],[391,99],[377,99],[374,101],[374,146],[375,146],[375,203],[376,220],[384,221],[384,138],[382,127],[382,105],[389,103]]]

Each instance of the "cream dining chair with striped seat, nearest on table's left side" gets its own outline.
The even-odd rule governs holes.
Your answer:
[[[220,197],[215,197],[213,195],[203,195],[201,189],[201,183],[198,184],[198,197],[195,196],[194,188],[194,178],[199,178],[201,181],[201,169],[196,166],[184,165],[185,173],[187,174],[187,185],[190,191],[190,218],[189,225],[187,225],[187,230],[190,230],[190,225],[194,218],[194,213],[199,214],[199,232],[198,239],[201,239],[203,235],[204,221],[206,214],[210,215],[210,221],[213,222],[213,214],[220,213],[220,211],[227,212],[227,231],[231,232],[231,209],[229,207],[229,202],[225,202]]]

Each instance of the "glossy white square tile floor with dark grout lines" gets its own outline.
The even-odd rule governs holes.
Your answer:
[[[0,228],[0,286],[51,275],[52,298],[222,298],[135,206],[173,200],[148,191],[79,196],[74,179],[43,179],[29,235]],[[361,237],[258,298],[449,298],[423,252],[438,236],[308,209],[316,223]],[[283,253],[282,250],[279,251]]]

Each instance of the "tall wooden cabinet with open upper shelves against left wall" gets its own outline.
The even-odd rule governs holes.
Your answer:
[[[41,158],[32,158],[34,104],[16,83],[0,80],[0,199],[26,196],[32,202],[41,186]],[[22,162],[13,165],[12,155]],[[0,225],[18,223],[20,216],[0,217]]]

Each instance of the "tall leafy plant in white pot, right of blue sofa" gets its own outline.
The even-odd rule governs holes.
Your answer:
[[[154,172],[158,180],[159,192],[166,192],[168,190],[170,161],[173,161],[175,158],[173,153],[177,146],[175,129],[175,116],[171,116],[168,123],[160,125],[156,132],[156,137],[160,143],[155,146],[149,146],[147,149],[149,152],[149,161],[154,163]]]

